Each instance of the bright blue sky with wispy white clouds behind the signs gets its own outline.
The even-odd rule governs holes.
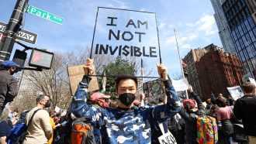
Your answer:
[[[0,0],[1,22],[9,22],[15,5],[16,0]],[[181,74],[174,29],[181,57],[211,43],[222,46],[209,0],[29,0],[29,5],[64,18],[63,25],[59,25],[25,15],[22,29],[38,34],[36,44],[26,45],[54,53],[91,47],[98,7],[155,12],[161,57],[171,75]],[[16,49],[22,47],[15,44]]]

